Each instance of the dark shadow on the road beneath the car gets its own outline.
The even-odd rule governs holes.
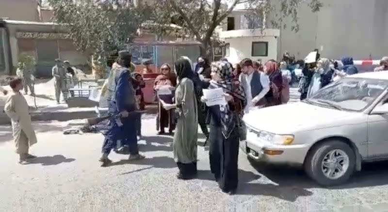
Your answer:
[[[310,179],[301,168],[295,168],[287,165],[258,164],[251,162],[253,167],[269,180],[283,187],[298,188],[322,188],[319,184]],[[327,189],[347,189],[373,187],[388,184],[387,161],[363,164],[362,170],[355,172],[349,182],[339,185],[326,187]]]

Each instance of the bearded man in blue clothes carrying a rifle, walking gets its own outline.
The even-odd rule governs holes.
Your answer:
[[[143,159],[144,155],[139,154],[136,137],[136,110],[135,91],[131,83],[129,73],[130,53],[120,51],[117,58],[118,66],[114,66],[111,74],[113,79],[107,85],[108,112],[120,114],[121,118],[112,118],[108,123],[108,132],[102,146],[101,166],[108,166],[112,161],[108,158],[109,153],[117,141],[125,141],[129,145],[129,160]]]

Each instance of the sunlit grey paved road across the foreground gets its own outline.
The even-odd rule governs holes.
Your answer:
[[[125,155],[99,167],[102,135],[63,135],[64,122],[37,122],[33,164],[17,164],[9,126],[0,126],[0,212],[379,212],[388,209],[386,163],[370,164],[341,187],[322,188],[302,170],[252,166],[239,156],[239,189],[222,193],[210,174],[208,147],[198,149],[198,179],[177,180],[172,138],[143,119],[146,159]],[[201,135],[203,140],[203,136]]]

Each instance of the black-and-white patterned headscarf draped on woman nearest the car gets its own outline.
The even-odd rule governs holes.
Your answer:
[[[240,84],[233,83],[233,67],[232,64],[226,61],[218,61],[211,63],[211,71],[220,75],[221,81],[216,85],[224,89],[224,92],[231,95],[234,102],[241,103],[242,108],[246,105],[244,90]],[[238,115],[233,115],[230,111],[229,104],[220,105],[222,134],[227,139],[238,123]]]

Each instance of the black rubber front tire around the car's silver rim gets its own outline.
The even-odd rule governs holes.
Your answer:
[[[333,150],[343,151],[349,158],[349,166],[345,173],[337,179],[326,177],[322,170],[324,157]],[[323,186],[339,185],[347,182],[356,167],[356,155],[353,149],[345,142],[338,140],[325,141],[314,147],[306,157],[305,171],[307,175]]]

